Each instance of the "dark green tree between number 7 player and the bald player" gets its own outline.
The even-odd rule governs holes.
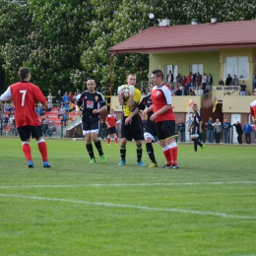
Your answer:
[[[44,92],[82,88],[85,72],[80,64],[87,43],[91,5],[77,0],[32,0],[34,31],[30,34],[33,82]]]

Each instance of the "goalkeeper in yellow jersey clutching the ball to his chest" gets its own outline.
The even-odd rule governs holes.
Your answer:
[[[118,88],[119,104],[123,106],[120,143],[121,161],[118,163],[118,165],[125,165],[126,143],[127,141],[132,141],[132,139],[134,139],[137,146],[137,163],[140,166],[145,166],[142,161],[142,119],[139,114],[136,114],[130,118],[130,115],[136,110],[137,105],[141,100],[141,92],[134,87],[136,84],[136,75],[130,74],[127,78],[127,84],[128,86],[121,86]],[[128,92],[127,88],[129,88]],[[124,91],[126,91],[125,94],[127,94],[125,96],[123,94]],[[126,119],[128,120],[126,121]]]

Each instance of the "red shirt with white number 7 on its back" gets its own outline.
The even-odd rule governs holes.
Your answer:
[[[39,126],[40,119],[34,110],[35,101],[37,100],[42,104],[46,102],[40,89],[30,82],[19,82],[10,86],[3,96],[8,94],[11,94],[14,101],[17,128],[26,125]]]

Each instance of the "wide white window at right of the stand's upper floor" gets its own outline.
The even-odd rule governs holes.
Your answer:
[[[227,74],[233,78],[234,75],[239,80],[248,80],[249,76],[249,62],[248,57],[228,57],[225,58],[225,78]],[[225,79],[224,78],[224,79]]]

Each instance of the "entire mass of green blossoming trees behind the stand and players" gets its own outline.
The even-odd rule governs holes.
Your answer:
[[[44,93],[84,88],[94,78],[109,94],[109,48],[158,26],[256,18],[255,0],[2,0],[0,5],[0,87],[17,81],[21,66],[32,68],[32,82]],[[175,35],[173,35],[175,36]],[[207,35],[206,35],[207,36]],[[160,38],[164,40],[164,38]],[[113,91],[129,73],[148,80],[148,54],[112,56]]]

